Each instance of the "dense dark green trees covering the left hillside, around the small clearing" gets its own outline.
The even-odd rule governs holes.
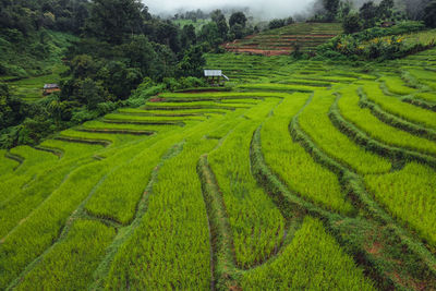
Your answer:
[[[208,28],[202,39],[218,47],[228,35],[223,14],[217,13]],[[29,106],[0,84],[0,147],[35,144],[57,130],[113,110],[142,83],[169,82],[177,87],[174,77],[201,76],[207,47],[197,46],[193,25],[179,27],[152,16],[140,0],[0,0],[0,37],[10,47],[50,62],[52,41],[61,40],[48,37],[47,29],[78,39],[68,43],[63,61],[69,71],[61,93]],[[68,44],[59,48],[58,62]],[[15,71],[0,63],[0,74]]]

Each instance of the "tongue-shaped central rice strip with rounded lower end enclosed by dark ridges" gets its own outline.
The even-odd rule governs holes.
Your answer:
[[[284,221],[250,170],[250,142],[277,100],[264,101],[239,120],[222,145],[209,155],[233,232],[234,254],[242,268],[262,263],[280,244]],[[255,235],[253,235],[255,233]]]

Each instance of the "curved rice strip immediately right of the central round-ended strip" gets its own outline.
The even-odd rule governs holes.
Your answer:
[[[262,126],[261,141],[265,160],[301,196],[328,209],[350,213],[353,207],[344,199],[338,178],[316,163],[290,136],[288,125],[308,95],[299,94],[284,99]]]

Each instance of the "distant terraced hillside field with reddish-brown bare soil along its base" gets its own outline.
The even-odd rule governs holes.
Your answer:
[[[342,33],[340,23],[295,23],[237,39],[222,47],[230,52],[264,56],[289,54],[296,46],[303,52],[311,52],[340,33]]]

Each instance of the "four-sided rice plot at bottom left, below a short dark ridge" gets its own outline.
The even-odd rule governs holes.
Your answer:
[[[16,290],[85,290],[116,230],[98,221],[76,220],[20,281]]]

